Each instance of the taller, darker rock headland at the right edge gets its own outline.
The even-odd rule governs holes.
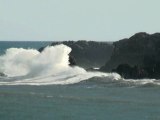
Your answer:
[[[137,33],[113,44],[111,58],[101,71],[115,71],[124,78],[160,78],[160,33]]]

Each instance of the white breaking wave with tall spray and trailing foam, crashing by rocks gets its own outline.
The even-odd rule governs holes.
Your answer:
[[[71,48],[65,45],[35,49],[10,48],[0,56],[0,85],[74,84],[92,77],[118,80],[115,73],[87,72],[78,66],[69,66]]]

